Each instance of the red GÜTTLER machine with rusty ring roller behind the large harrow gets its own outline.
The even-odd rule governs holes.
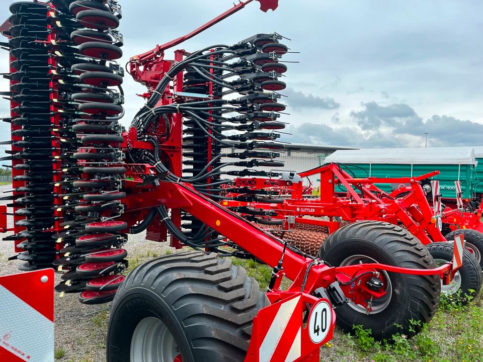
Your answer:
[[[443,220],[448,222],[451,218],[455,224],[465,218],[461,210],[442,210],[437,181],[432,185],[434,207],[430,207],[421,180],[437,174],[439,171],[418,177],[355,178],[337,163],[331,163],[292,175],[292,180],[236,179],[235,185],[243,185],[247,192],[236,194],[228,190],[227,199],[221,204],[244,215],[248,220],[260,225],[270,225],[266,227],[272,233],[290,239],[302,251],[317,255],[333,265],[332,260],[325,255],[323,243],[330,234],[348,223],[372,220],[401,226],[427,245],[438,260],[448,260],[451,254],[444,257],[439,244],[432,246],[431,243],[452,240],[454,235],[463,233],[468,253],[464,262],[466,273],[461,274],[462,281],[458,287],[452,285],[443,289],[447,294],[458,291],[462,294],[477,294],[481,281],[474,276],[480,274],[483,267],[483,235],[475,230],[465,229],[465,225],[468,225],[465,221],[463,230],[455,230],[446,237],[443,236]],[[305,187],[302,178],[311,175],[319,176],[320,191],[317,198],[303,195]],[[387,194],[375,186],[382,183],[398,184],[401,187]],[[341,196],[344,194],[340,191],[342,189],[345,190],[345,196]],[[290,196],[283,197],[287,193]],[[260,199],[257,194],[265,195],[265,198]]]

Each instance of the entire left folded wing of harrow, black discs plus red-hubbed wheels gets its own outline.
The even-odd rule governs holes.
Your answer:
[[[24,206],[16,213],[26,216],[18,225],[27,229],[12,237],[27,239],[21,244],[27,252],[18,258],[30,268],[53,263],[64,272],[59,292],[79,292],[84,303],[106,302],[127,267],[126,237],[119,232],[126,224],[116,221],[125,172],[118,122],[123,70],[114,61],[122,55],[115,30],[120,11],[115,1],[102,0],[54,0],[47,7],[22,2],[11,10],[12,67],[23,72],[21,78],[12,74],[21,81],[11,87],[13,101],[22,101],[12,120],[23,136],[13,146],[24,147],[13,156],[23,160],[15,167],[25,169],[16,180],[26,181],[16,190],[25,196],[15,195],[13,205]],[[63,248],[56,251],[56,243]]]

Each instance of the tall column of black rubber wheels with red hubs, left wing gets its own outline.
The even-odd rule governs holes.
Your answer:
[[[116,2],[53,1],[57,56],[58,108],[66,123],[59,128],[61,143],[76,148],[62,154],[66,231],[55,237],[64,243],[64,256],[54,262],[63,283],[56,290],[81,292],[79,300],[94,304],[112,300],[127,267],[126,241],[116,221],[123,212],[119,192],[122,174],[123,70],[122,36],[116,31],[120,9]],[[69,170],[72,172],[69,173]],[[77,173],[77,174],[75,174]]]

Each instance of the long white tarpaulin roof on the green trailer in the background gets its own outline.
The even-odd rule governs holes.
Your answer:
[[[483,147],[481,155],[483,157]],[[325,162],[383,164],[476,164],[473,147],[366,148],[337,150]]]

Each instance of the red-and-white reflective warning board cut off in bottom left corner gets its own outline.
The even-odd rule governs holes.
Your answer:
[[[53,361],[53,270],[0,277],[0,301],[0,361]]]

